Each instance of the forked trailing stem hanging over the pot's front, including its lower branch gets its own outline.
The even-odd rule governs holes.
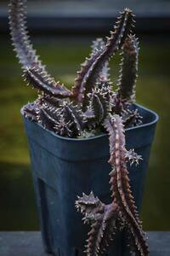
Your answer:
[[[105,205],[99,199],[97,201],[94,194],[83,195],[76,202],[77,207],[85,214],[84,219],[88,218],[91,221],[92,230],[88,234],[87,255],[94,256],[103,253],[107,241],[113,238],[111,235],[115,236],[117,231],[126,228],[132,236],[131,249],[137,255],[146,256],[149,255],[149,249],[127,176],[126,163],[129,159],[127,159],[125,148],[122,118],[114,115],[105,119],[105,128],[110,135],[111,158],[109,162],[113,168],[110,174],[112,203]],[[134,157],[136,159],[136,155]],[[99,212],[101,207],[102,211]],[[91,215],[92,212],[94,212],[93,215]]]

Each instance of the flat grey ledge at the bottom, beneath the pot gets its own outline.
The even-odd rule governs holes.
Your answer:
[[[150,256],[170,255],[170,232],[148,232]],[[47,256],[40,232],[0,232],[0,256]],[[67,255],[69,256],[69,255]]]

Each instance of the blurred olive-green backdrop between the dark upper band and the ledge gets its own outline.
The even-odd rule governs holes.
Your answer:
[[[71,86],[79,64],[90,51],[88,37],[34,37],[33,41],[57,80]],[[169,126],[170,38],[140,36],[137,101],[159,114],[144,190],[141,218],[145,230],[170,230]],[[37,93],[21,79],[9,38],[1,36],[0,59],[0,230],[37,230],[39,224],[31,181],[29,153],[20,108]],[[111,61],[116,84],[119,55]]]

